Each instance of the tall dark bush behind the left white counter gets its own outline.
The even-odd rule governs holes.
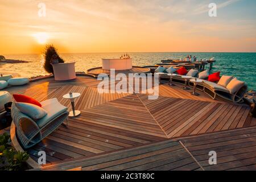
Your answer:
[[[53,55],[57,56],[57,59],[59,60],[59,63],[64,63],[64,60],[61,59],[61,57],[59,56],[59,53],[57,52],[57,49],[53,45],[47,45],[46,49],[44,51],[44,69],[48,73],[53,73],[53,68],[52,68],[52,65],[51,65],[51,59],[52,59]]]

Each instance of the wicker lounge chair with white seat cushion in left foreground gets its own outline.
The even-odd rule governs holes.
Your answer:
[[[67,107],[61,105],[56,98],[40,102],[47,115],[34,121],[23,114],[15,104],[11,107],[11,116],[16,127],[18,137],[23,148],[30,148],[57,129],[67,118]]]

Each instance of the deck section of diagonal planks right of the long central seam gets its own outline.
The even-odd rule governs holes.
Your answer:
[[[143,94],[139,97],[168,138],[248,127],[253,121],[250,107],[245,105],[162,96],[148,100]]]

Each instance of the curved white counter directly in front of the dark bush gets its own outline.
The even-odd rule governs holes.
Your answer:
[[[52,64],[54,78],[57,81],[73,80],[76,78],[75,62]]]

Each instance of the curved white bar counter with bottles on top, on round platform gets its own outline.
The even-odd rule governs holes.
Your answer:
[[[102,59],[102,69],[115,69],[118,71],[132,68],[133,64],[131,59]]]

